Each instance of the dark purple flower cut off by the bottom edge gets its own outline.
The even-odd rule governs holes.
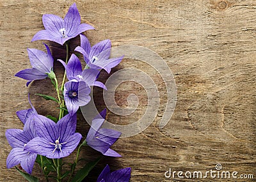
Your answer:
[[[109,165],[107,164],[103,171],[100,173],[97,182],[129,182],[130,178],[131,167],[110,172]]]

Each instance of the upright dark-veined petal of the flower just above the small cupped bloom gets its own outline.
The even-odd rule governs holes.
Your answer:
[[[79,58],[75,54],[71,55],[67,64],[66,71],[68,80],[79,79],[77,75],[82,74],[82,65],[79,61]]]

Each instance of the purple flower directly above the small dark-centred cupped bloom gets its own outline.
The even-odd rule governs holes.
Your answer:
[[[58,59],[58,61],[60,61],[65,67],[68,80],[71,80],[73,82],[84,81],[89,86],[98,86],[106,89],[106,86],[102,84],[102,82],[97,81],[97,78],[100,73],[99,70],[91,68],[82,70],[82,64],[75,54],[71,55],[67,65],[64,61],[60,59]]]

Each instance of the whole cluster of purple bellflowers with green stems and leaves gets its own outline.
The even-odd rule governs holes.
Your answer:
[[[106,86],[99,82],[100,70],[110,72],[111,68],[119,64],[124,56],[109,58],[111,54],[111,41],[103,40],[91,47],[90,42],[82,33],[94,29],[89,24],[81,24],[81,17],[77,10],[76,3],[70,6],[64,19],[57,15],[46,14],[42,17],[45,29],[38,31],[33,36],[32,42],[36,40],[49,40],[65,45],[67,56],[65,61],[60,61],[65,68],[65,73],[61,84],[53,70],[54,59],[51,50],[44,43],[47,53],[42,50],[28,49],[29,61],[32,68],[16,73],[16,77],[28,80],[27,86],[33,80],[45,78],[51,79],[52,85],[56,89],[57,97],[40,95],[47,100],[56,102],[60,108],[59,118],[45,117],[36,112],[29,95],[28,101],[30,109],[17,111],[17,116],[24,124],[23,130],[6,130],[6,139],[12,150],[6,160],[8,168],[16,167],[24,178],[28,181],[38,181],[32,176],[34,163],[37,162],[42,168],[46,181],[56,179],[56,181],[83,181],[88,173],[97,165],[100,158],[76,170],[79,162],[79,153],[82,146],[88,146],[105,156],[119,157],[110,147],[120,137],[121,133],[108,128],[102,128],[106,118],[106,109],[99,114],[95,114],[91,128],[86,135],[86,139],[81,141],[82,135],[76,132],[77,110],[79,107],[87,105],[90,100],[91,86],[106,89]],[[68,57],[68,40],[80,36],[81,45],[76,47],[76,51],[83,54],[86,63],[85,68],[79,58],[72,54]],[[66,82],[67,81],[67,82]],[[62,159],[72,153],[78,146],[76,159],[70,164],[70,170],[63,171]],[[110,172],[109,166],[101,172],[97,182],[129,181],[131,168],[120,169]]]

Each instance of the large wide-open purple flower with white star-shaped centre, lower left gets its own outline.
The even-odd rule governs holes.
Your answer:
[[[24,150],[48,158],[63,158],[70,155],[82,138],[80,133],[75,133],[76,114],[67,114],[58,123],[37,115],[35,125],[38,137],[30,140]]]

